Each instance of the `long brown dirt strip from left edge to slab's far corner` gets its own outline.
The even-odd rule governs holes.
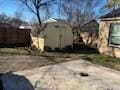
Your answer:
[[[77,56],[77,58],[80,58]],[[76,55],[46,53],[40,56],[33,55],[0,55],[0,73],[21,71],[50,64],[76,60]]]

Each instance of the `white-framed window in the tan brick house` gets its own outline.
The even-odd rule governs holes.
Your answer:
[[[111,24],[109,34],[109,45],[120,47],[120,23]]]

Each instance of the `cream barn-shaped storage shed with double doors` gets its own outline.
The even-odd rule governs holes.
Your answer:
[[[45,46],[52,48],[64,48],[68,45],[73,45],[72,28],[64,22],[49,23],[45,30],[44,42]]]

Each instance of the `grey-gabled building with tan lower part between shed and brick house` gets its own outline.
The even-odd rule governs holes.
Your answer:
[[[95,21],[83,25],[80,29],[80,36],[85,45],[97,48],[99,24]]]

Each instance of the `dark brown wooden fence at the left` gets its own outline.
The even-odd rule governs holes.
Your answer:
[[[30,29],[0,27],[0,46],[30,46]]]

